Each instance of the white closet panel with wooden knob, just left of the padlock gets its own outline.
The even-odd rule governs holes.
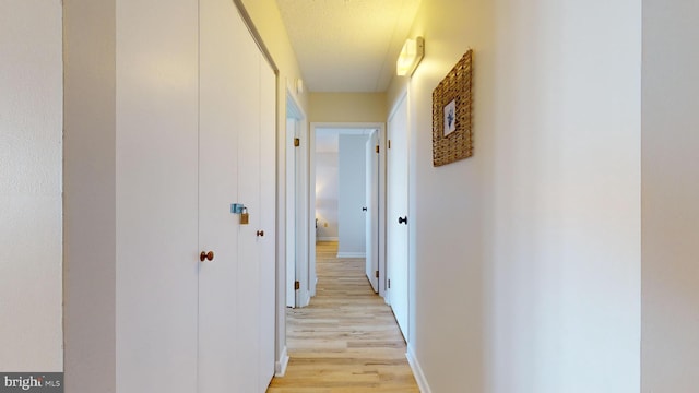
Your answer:
[[[200,1],[199,250],[214,252],[199,263],[199,393],[238,392],[238,115],[242,35],[232,1]],[[236,27],[237,26],[237,27]],[[226,50],[226,48],[229,48]],[[242,392],[242,391],[240,391]]]

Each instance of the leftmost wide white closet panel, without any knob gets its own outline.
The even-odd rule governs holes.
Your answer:
[[[192,393],[198,5],[119,1],[116,15],[117,392]]]

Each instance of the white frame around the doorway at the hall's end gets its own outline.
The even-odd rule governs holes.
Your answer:
[[[317,129],[376,129],[379,140],[379,295],[386,294],[386,123],[382,122],[311,122],[309,130],[309,182],[308,182],[308,223],[316,222],[316,130]],[[311,233],[312,231],[312,233]],[[309,291],[316,296],[316,228],[309,225],[308,233]]]

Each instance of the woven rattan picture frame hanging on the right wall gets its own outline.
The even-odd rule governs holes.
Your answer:
[[[433,91],[433,165],[442,166],[473,155],[471,64],[469,49]]]

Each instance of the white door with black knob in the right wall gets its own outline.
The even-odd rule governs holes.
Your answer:
[[[388,278],[389,302],[407,337],[407,99],[403,97],[388,124]]]

